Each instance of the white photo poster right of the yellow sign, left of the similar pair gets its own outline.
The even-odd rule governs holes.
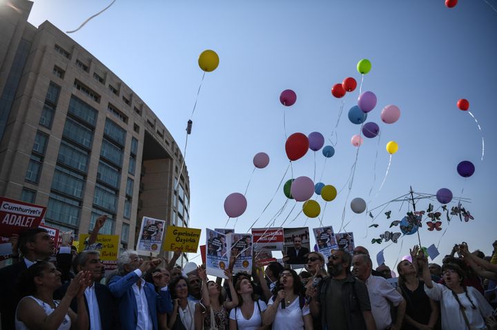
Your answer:
[[[208,275],[226,278],[224,269],[228,268],[231,255],[226,240],[225,234],[206,229],[206,268]]]

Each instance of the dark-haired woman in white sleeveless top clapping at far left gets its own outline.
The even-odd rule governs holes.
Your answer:
[[[84,291],[90,282],[89,271],[79,272],[70,282],[62,300],[53,300],[54,291],[62,285],[61,273],[51,262],[36,262],[26,269],[19,280],[19,289],[25,297],[17,305],[16,329],[87,330],[89,320]],[[77,314],[69,307],[75,297]]]

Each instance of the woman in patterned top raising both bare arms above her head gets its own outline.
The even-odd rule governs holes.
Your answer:
[[[226,282],[231,292],[232,301],[224,301],[221,286],[216,282],[207,280],[206,269],[199,267],[198,276],[202,279],[202,302],[195,308],[195,328],[202,329],[228,329],[228,311],[238,305],[238,296],[233,286],[231,271],[226,269]]]

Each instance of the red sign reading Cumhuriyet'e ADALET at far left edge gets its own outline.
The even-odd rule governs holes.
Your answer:
[[[45,215],[46,207],[0,197],[0,233],[5,237],[36,228]]]

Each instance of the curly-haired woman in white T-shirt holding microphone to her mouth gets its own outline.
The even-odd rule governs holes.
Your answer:
[[[297,273],[285,269],[278,282],[277,294],[269,300],[262,317],[263,324],[272,323],[273,330],[312,330],[312,316],[309,305],[305,304],[304,287]]]

